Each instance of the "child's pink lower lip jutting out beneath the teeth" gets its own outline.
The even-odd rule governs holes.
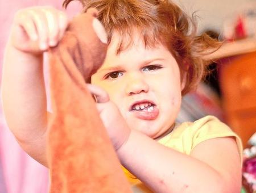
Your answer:
[[[142,110],[133,110],[131,112],[136,118],[143,119],[143,120],[154,120],[158,117],[159,110],[156,106],[154,106],[154,109],[150,112],[148,112],[147,109],[148,107],[145,107]]]

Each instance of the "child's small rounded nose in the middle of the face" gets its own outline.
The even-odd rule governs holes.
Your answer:
[[[139,93],[147,93],[149,85],[142,74],[131,74],[127,77],[126,94],[133,95]]]

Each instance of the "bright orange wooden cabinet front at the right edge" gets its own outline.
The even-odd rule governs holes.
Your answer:
[[[256,132],[256,52],[225,59],[219,75],[226,121],[246,146]]]

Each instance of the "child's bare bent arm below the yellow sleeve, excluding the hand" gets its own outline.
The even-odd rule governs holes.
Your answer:
[[[188,156],[132,131],[118,156],[154,192],[241,191],[241,163],[232,137],[201,142]]]

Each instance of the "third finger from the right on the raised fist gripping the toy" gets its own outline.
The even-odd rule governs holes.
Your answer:
[[[30,16],[33,19],[36,31],[38,32],[38,39],[39,39],[39,47],[43,51],[46,51],[48,48],[48,24],[47,24],[47,18],[46,15],[42,10],[35,10],[31,9]]]

